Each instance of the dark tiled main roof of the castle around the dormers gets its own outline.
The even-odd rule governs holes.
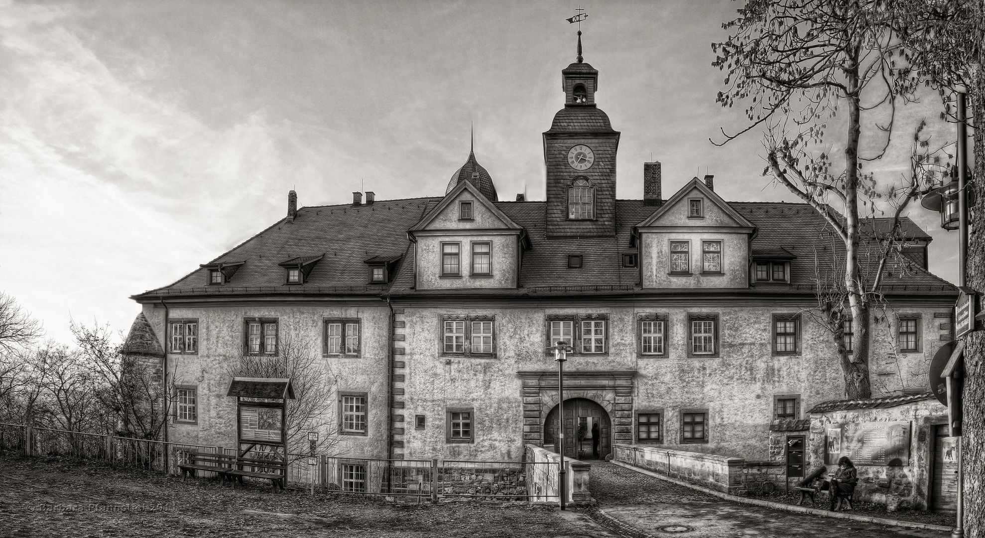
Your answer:
[[[228,284],[209,286],[207,271],[196,270],[170,286],[134,296],[222,296],[226,294],[325,294],[325,295],[469,295],[551,296],[634,294],[639,286],[638,269],[623,267],[622,254],[634,253],[633,227],[657,208],[643,200],[616,201],[616,235],[604,238],[551,237],[546,234],[547,202],[495,202],[494,206],[526,230],[531,249],[522,252],[520,286],[517,290],[414,290],[414,249],[407,232],[442,199],[411,198],[378,200],[372,205],[315,206],[297,211],[294,223],[286,219],[250,237],[212,263],[246,260]],[[791,263],[790,285],[754,284],[750,288],[701,290],[708,294],[813,294],[819,267],[838,267],[844,246],[824,220],[807,204],[777,202],[729,202],[756,226],[755,252],[786,251],[796,256]],[[907,228],[915,224],[904,219]],[[877,221],[876,227],[882,226]],[[863,263],[875,260],[873,241],[863,242]],[[303,285],[287,285],[283,260],[317,256]],[[568,254],[581,254],[583,265],[568,269]],[[839,257],[840,256],[840,257]],[[395,261],[389,285],[369,284],[367,260]],[[904,265],[905,264],[905,265]],[[874,273],[875,262],[868,263]],[[407,270],[403,270],[407,268]],[[831,280],[836,273],[821,274]],[[881,291],[952,295],[953,286],[915,264],[902,259],[889,264]],[[647,293],[679,293],[682,290],[647,290]]]

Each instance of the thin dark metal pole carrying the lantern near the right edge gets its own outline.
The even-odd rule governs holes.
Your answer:
[[[968,135],[967,135],[967,95],[963,89],[957,90],[957,282],[958,286],[968,285],[968,197],[967,186],[968,168]],[[973,322],[973,320],[972,320]],[[952,425],[953,426],[953,425]],[[954,514],[954,530],[952,538],[964,536],[964,465],[961,462],[962,438],[957,437],[957,506]]]

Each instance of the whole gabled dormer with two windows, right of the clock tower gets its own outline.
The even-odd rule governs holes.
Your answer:
[[[708,184],[694,177],[636,225],[643,288],[749,287],[755,225]]]

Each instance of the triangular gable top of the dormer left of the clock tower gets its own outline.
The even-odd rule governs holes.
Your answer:
[[[473,218],[471,221],[459,219],[459,202],[472,202]],[[507,229],[522,230],[505,213],[499,211],[489,198],[484,196],[469,180],[463,180],[458,186],[448,191],[448,194],[438,202],[410,232],[425,230],[490,230]]]

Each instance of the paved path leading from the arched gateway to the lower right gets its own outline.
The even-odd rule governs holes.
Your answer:
[[[592,462],[591,480],[589,490],[604,515],[608,514],[651,536],[950,536],[945,531],[874,525],[732,503],[610,462]]]

